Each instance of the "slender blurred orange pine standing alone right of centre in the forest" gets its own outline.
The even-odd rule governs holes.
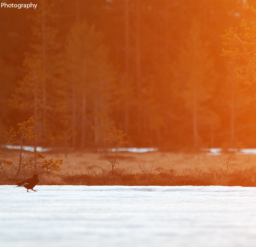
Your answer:
[[[196,19],[192,21],[181,49],[178,66],[180,71],[177,79],[181,79],[180,93],[189,114],[187,121],[192,126],[193,147],[197,149],[200,144],[200,126],[206,121],[205,112],[209,111],[204,103],[211,98],[211,82],[214,77],[209,47],[201,37],[200,23]],[[187,134],[189,136],[189,133]]]

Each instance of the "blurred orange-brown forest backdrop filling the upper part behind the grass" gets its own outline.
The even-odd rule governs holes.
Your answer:
[[[255,102],[221,34],[243,1],[40,0],[1,10],[0,142],[33,116],[36,145],[255,147]],[[12,18],[10,18],[12,16]]]

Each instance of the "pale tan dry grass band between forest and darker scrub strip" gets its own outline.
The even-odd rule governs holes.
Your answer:
[[[30,152],[24,153],[24,158],[29,159]],[[2,151],[5,159],[18,162],[19,151]],[[45,152],[45,159],[53,158],[63,159],[62,170],[65,172],[85,173],[88,171],[100,172],[109,170],[111,165],[109,161],[100,157],[99,152],[74,151],[68,154],[62,152]],[[117,159],[116,169],[127,172],[150,172],[151,170],[173,169],[177,172],[213,169],[226,169],[230,152],[220,155],[209,155],[205,153],[171,153],[171,152],[148,152],[148,153],[130,153],[124,152],[123,157]],[[254,154],[232,154],[229,159],[228,169],[251,167],[255,163]]]

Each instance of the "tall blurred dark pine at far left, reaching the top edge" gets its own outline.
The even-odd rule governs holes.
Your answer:
[[[64,115],[64,82],[62,55],[57,42],[57,16],[52,3],[41,0],[38,8],[29,16],[32,21],[31,49],[24,59],[25,76],[10,100],[10,104],[35,118],[37,144],[55,144]],[[48,142],[48,143],[47,143]]]

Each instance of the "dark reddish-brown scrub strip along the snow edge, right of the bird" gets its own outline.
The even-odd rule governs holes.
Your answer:
[[[87,172],[60,176],[64,184],[71,185],[126,185],[126,186],[256,186],[256,169],[243,168],[225,172],[221,169],[175,172],[132,173],[126,171]]]

